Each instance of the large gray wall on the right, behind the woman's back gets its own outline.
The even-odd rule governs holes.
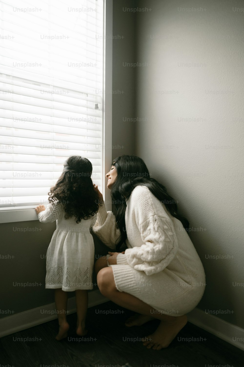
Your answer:
[[[137,6],[151,11],[136,14],[135,62],[148,65],[135,68],[135,117],[150,121],[136,123],[135,154],[193,228],[207,283],[198,307],[243,328],[243,1]]]

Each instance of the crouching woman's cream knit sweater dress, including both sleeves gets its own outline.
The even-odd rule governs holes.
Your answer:
[[[197,306],[205,289],[204,268],[190,237],[146,186],[136,186],[126,204],[127,249],[117,256],[117,265],[110,265],[117,290],[157,312],[185,315]],[[116,252],[120,230],[104,203],[93,231]]]

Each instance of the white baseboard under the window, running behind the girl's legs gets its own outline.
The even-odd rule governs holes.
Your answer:
[[[99,290],[88,292],[88,308],[108,301],[109,299],[104,297]],[[75,297],[68,299],[67,310],[68,315],[76,312]],[[57,319],[57,317],[55,303],[4,317],[0,319],[0,338]]]

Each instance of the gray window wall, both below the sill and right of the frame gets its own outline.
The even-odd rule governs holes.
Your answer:
[[[131,2],[123,1],[123,4],[126,3]],[[121,69],[121,57],[124,55],[130,62],[134,59],[133,37],[131,36],[134,34],[134,15],[123,12],[121,9],[122,1],[114,1],[113,35],[119,34],[124,38],[113,40],[113,91],[123,91],[120,94],[113,94],[112,147],[109,147],[113,150],[113,158],[133,153],[134,124],[122,125],[121,116],[123,114],[131,117],[134,115],[134,70],[128,73],[127,68]],[[121,149],[118,149],[119,146]],[[107,168],[107,171],[109,169],[110,167]],[[21,229],[21,232],[18,232],[18,228]],[[31,231],[32,228],[35,230]],[[0,253],[14,256],[14,258],[0,260],[1,310],[14,311],[15,315],[18,312],[54,302],[53,290],[45,289],[44,258],[54,230],[55,223],[43,224],[39,221],[0,224]],[[95,235],[93,237],[96,259],[99,255],[107,254],[108,248]],[[41,285],[17,287],[13,285],[15,282],[37,282]],[[97,286],[94,287],[96,288]],[[73,296],[74,292],[70,292],[69,297]],[[0,318],[10,315],[12,314],[0,313]]]

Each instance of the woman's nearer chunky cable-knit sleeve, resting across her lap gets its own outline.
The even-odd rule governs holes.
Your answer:
[[[139,225],[143,245],[127,248],[117,256],[117,264],[129,264],[146,275],[164,270],[178,251],[178,240],[172,221],[152,215]]]

